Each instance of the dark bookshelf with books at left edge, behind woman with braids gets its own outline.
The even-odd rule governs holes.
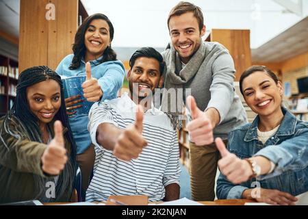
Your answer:
[[[15,101],[18,62],[0,55],[0,116],[4,116]]]

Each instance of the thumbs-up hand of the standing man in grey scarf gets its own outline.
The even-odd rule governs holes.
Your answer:
[[[196,145],[211,144],[214,141],[211,120],[198,109],[193,96],[188,96],[186,103],[192,115],[192,120],[186,126],[191,142]]]

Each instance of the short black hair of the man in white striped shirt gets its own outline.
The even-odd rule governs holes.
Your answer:
[[[164,75],[164,71],[166,69],[166,63],[162,55],[152,47],[142,47],[138,49],[133,55],[131,55],[131,59],[129,60],[129,66],[133,68],[138,57],[153,57],[153,59],[159,62],[159,73],[160,75]]]

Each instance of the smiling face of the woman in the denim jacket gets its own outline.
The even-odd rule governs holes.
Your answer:
[[[256,71],[242,82],[244,99],[259,116],[274,116],[281,112],[283,88],[265,72]]]

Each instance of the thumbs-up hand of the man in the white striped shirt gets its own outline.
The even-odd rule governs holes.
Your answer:
[[[118,157],[118,159],[123,159],[125,161],[136,159],[142,152],[144,146],[148,144],[142,137],[142,122],[143,110],[142,107],[138,105],[135,123],[123,130],[114,146],[114,155]]]

